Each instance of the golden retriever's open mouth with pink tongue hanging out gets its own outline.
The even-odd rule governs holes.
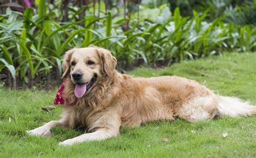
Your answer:
[[[97,80],[97,75],[93,76],[91,81],[89,82],[77,83],[75,88],[75,96],[77,98],[83,97],[86,91],[88,91],[92,87],[92,85],[95,83],[96,80]]]

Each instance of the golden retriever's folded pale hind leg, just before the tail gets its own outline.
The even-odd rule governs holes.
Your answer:
[[[218,100],[214,96],[196,97],[179,109],[178,117],[190,122],[210,120],[217,114]]]

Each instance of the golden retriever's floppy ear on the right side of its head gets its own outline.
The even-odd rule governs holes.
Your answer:
[[[100,58],[100,65],[102,66],[103,74],[111,77],[117,66],[116,58],[114,58],[114,56],[104,48],[96,48],[96,52]]]

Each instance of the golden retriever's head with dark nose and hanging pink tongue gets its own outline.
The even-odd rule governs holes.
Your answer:
[[[70,77],[75,84],[75,95],[80,98],[111,78],[117,61],[109,51],[99,47],[73,48],[66,52],[62,63],[63,76]]]

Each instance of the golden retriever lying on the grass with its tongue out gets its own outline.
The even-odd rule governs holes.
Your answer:
[[[215,116],[252,116],[256,106],[234,97],[215,95],[204,85],[178,76],[134,78],[116,71],[116,59],[95,46],[66,52],[63,77],[64,112],[31,135],[50,135],[55,126],[86,127],[86,133],[60,142],[70,146],[116,137],[120,126],[136,126],[176,117],[190,122]],[[71,103],[76,103],[75,105]]]

